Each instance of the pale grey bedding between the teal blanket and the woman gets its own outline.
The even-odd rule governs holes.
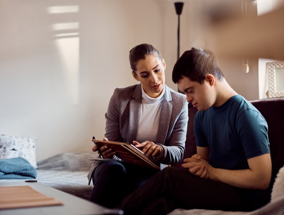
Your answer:
[[[87,174],[91,164],[89,157],[93,152],[62,153],[37,163],[37,181],[78,197],[89,199],[93,185],[88,185]],[[2,182],[25,181],[17,179]]]

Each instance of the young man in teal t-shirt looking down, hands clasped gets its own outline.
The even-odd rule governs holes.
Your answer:
[[[227,83],[214,54],[186,51],[172,80],[198,109],[197,154],[167,167],[127,196],[125,214],[167,214],[175,208],[255,210],[270,201],[271,156],[261,113]]]

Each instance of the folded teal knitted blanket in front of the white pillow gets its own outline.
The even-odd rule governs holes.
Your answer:
[[[37,169],[21,157],[0,159],[0,179],[35,179]]]

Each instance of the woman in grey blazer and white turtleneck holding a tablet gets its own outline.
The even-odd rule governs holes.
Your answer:
[[[132,75],[140,83],[115,89],[105,114],[104,140],[131,142],[161,164],[180,162],[188,122],[185,95],[165,85],[166,63],[152,45],[134,47],[129,61]],[[92,148],[98,149],[103,158],[115,157],[107,146]],[[115,160],[93,164],[88,175],[94,185],[90,200],[114,208],[157,171]]]

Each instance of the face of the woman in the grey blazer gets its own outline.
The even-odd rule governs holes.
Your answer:
[[[160,60],[156,55],[147,55],[136,64],[136,74],[133,77],[140,81],[143,90],[149,97],[157,98],[161,95],[165,85],[165,60]]]

